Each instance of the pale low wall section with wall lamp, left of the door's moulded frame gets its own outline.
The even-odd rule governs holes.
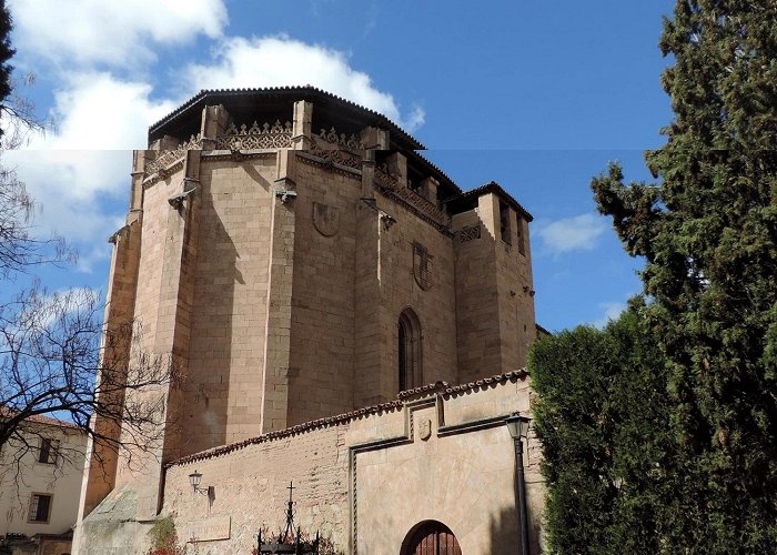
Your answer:
[[[293,482],[296,524],[343,545],[349,523],[347,430],[347,423],[307,430],[173,465],[165,476],[163,514],[173,515],[182,542],[200,539],[193,542],[200,554],[250,553],[260,529],[266,537],[283,528]],[[213,486],[212,497],[193,492],[189,474],[194,471],[202,474],[201,487]],[[203,532],[220,518],[220,529]],[[223,535],[223,526],[229,526],[228,539],[204,537]]]

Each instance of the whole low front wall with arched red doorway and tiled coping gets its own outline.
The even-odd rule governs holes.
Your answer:
[[[393,402],[199,453],[167,470],[163,515],[200,554],[250,553],[259,529],[278,534],[289,484],[296,523],[339,553],[398,553],[434,519],[464,553],[512,552],[518,539],[513,440],[505,416],[528,410],[528,383],[509,374],[460,387],[427,386]],[[541,523],[539,455],[526,467],[531,537]],[[189,474],[202,474],[193,492]]]

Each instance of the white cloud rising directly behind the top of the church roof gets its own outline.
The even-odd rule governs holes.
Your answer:
[[[185,75],[192,90],[312,84],[406,124],[408,131],[424,122],[417,105],[403,119],[394,98],[351,68],[344,52],[286,36],[228,39],[215,50],[214,63],[192,63]]]

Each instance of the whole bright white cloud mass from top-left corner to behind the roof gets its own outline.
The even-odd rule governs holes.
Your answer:
[[[351,68],[346,53],[285,36],[221,39],[221,0],[12,0],[11,7],[16,46],[53,61],[59,85],[50,109],[56,129],[23,150],[4,152],[2,163],[17,168],[42,206],[37,233],[56,233],[74,245],[81,271],[110,256],[105,239],[125,214],[131,150],[144,148],[148,127],[200,89],[313,84],[408,131],[424,123],[415,104],[403,120],[394,98]],[[174,91],[154,90],[143,77],[117,77],[133,65],[127,60],[153,61],[155,46],[196,34],[218,39],[214,58],[210,65],[184,62],[173,70],[181,75]],[[112,64],[112,71],[98,70],[100,64]]]

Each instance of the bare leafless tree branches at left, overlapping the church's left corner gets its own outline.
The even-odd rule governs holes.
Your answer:
[[[36,435],[41,416],[71,423],[112,451],[148,452],[161,438],[163,396],[154,393],[178,379],[173,360],[144,352],[138,324],[103,326],[102,311],[89,290],[47,294],[40,286],[0,304],[0,447],[7,457],[18,462],[37,448],[24,437]],[[129,357],[121,345],[130,346]],[[100,421],[121,426],[121,435],[107,433]]]

